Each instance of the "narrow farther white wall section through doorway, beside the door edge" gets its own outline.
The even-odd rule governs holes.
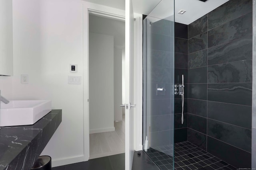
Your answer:
[[[114,120],[122,120],[122,49],[114,48]]]

